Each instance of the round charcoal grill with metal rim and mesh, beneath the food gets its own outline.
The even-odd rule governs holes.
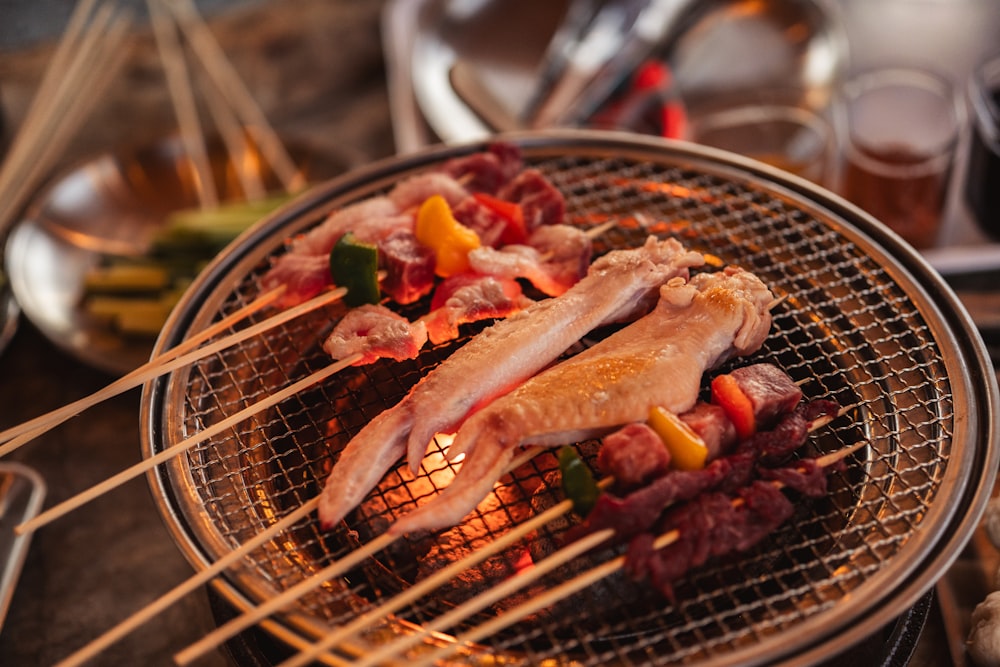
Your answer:
[[[803,382],[807,398],[832,398],[848,409],[811,436],[806,454],[864,446],[833,475],[826,497],[795,499],[793,519],[757,547],[691,571],[677,582],[673,603],[612,575],[490,635],[459,661],[816,664],[907,612],[969,538],[997,467],[995,379],[946,285],[857,209],[755,162],[617,134],[505,139],[564,193],[570,224],[616,221],[597,238],[596,252],[638,245],[648,234],[675,235],[757,273],[784,300],[764,347],[738,363],[773,362]],[[375,164],[263,221],[204,272],[159,348],[252,301],[257,278],[290,235],[400,178],[483,148],[438,148]],[[415,304],[404,314],[413,319],[426,308]],[[320,343],[343,312],[329,306],[148,385],[144,453],[161,452],[327,366]],[[151,475],[186,556],[203,568],[313,499],[350,437],[466,339],[427,347],[411,361],[344,370]],[[588,443],[580,447],[590,451]],[[324,532],[314,517],[300,521],[217,579],[216,591],[242,610],[343,558],[434,493],[447,465],[428,467],[431,473],[416,479],[390,472],[341,528]],[[530,516],[555,468],[551,456],[537,457],[504,478],[462,526],[394,542],[262,627],[293,646],[315,640]],[[557,541],[560,530],[547,527],[540,541]],[[509,577],[524,555],[508,551],[487,560],[398,610],[353,647],[364,653],[430,622]],[[449,634],[613,555],[597,550],[574,560]]]

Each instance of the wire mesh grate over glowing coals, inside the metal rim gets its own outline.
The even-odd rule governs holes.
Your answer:
[[[672,234],[756,272],[785,297],[764,347],[739,363],[774,362],[804,381],[808,398],[832,398],[849,408],[847,418],[813,435],[810,453],[861,440],[868,446],[833,477],[826,498],[799,503],[794,519],[750,552],[691,572],[678,582],[674,603],[613,576],[485,640],[485,653],[513,653],[530,664],[724,662],[829,614],[848,596],[876,585],[887,566],[905,573],[907,566],[896,564],[946,484],[956,424],[949,353],[911,291],[837,220],[759,179],[685,160],[536,152],[533,166],[566,196],[570,223],[618,222],[596,241],[598,253],[637,245],[649,233]],[[262,255],[255,269],[235,276],[235,287],[216,288],[219,316],[256,296],[255,281],[265,266]],[[413,319],[421,308],[426,304],[404,314]],[[165,429],[157,448],[327,365],[319,346],[342,312],[331,306],[298,318],[176,373],[164,399],[174,428]],[[469,327],[465,334],[475,331]],[[428,348],[416,360],[347,369],[182,457],[170,485],[178,502],[188,503],[187,514],[197,514],[187,519],[193,539],[208,552],[224,552],[308,502],[350,437],[463,340]],[[582,447],[588,451],[586,443]],[[296,613],[335,624],[405,590],[530,516],[538,488],[556,469],[553,457],[539,456],[505,478],[478,516],[440,536],[394,543],[304,598]],[[230,577],[232,585],[251,599],[294,585],[383,532],[448,474],[449,464],[434,452],[417,479],[391,472],[345,529],[323,532],[304,521],[255,551],[245,570]],[[560,530],[543,531],[541,541],[556,543]],[[524,547],[488,560],[398,618],[425,623],[510,576],[524,555],[517,549]],[[514,601],[615,553],[588,554]],[[501,602],[470,623],[512,603]]]

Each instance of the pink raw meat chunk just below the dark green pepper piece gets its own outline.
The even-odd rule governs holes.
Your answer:
[[[427,327],[421,321],[410,323],[385,306],[364,304],[347,311],[323,343],[334,359],[361,353],[355,366],[370,364],[388,357],[412,359],[427,342]]]

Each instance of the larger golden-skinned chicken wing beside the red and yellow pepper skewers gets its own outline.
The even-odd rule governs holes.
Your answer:
[[[763,343],[771,300],[760,279],[739,269],[669,281],[652,313],[469,417],[449,450],[451,457],[466,455],[454,481],[390,530],[457,523],[523,443],[576,442],[645,420],[653,406],[691,408],[705,370]]]

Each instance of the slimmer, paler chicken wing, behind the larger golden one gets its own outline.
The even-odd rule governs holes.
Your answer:
[[[674,239],[598,258],[565,294],[497,322],[428,373],[398,404],[363,428],[341,453],[319,503],[320,521],[340,521],[403,454],[417,468],[435,433],[509,391],[591,330],[646,312],[657,288],[704,257]]]

